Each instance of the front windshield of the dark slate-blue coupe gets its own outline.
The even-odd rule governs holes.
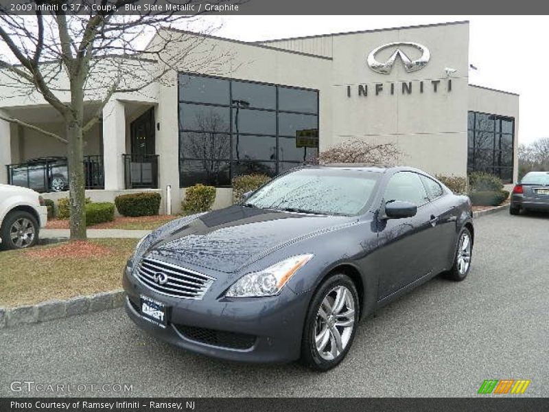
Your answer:
[[[248,207],[312,214],[355,215],[369,202],[380,172],[359,168],[305,168],[262,187]]]

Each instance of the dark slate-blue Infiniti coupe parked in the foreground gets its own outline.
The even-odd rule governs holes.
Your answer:
[[[327,370],[360,319],[439,273],[465,279],[473,240],[469,198],[421,170],[307,166],[143,238],[126,312],[193,352]]]

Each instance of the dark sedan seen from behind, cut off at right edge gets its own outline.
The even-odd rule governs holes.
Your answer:
[[[528,172],[513,187],[509,213],[549,211],[549,172]]]

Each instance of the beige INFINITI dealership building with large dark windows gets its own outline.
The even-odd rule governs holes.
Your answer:
[[[165,34],[150,47],[198,38],[193,53],[202,60],[173,61],[146,93],[113,95],[84,136],[87,196],[152,190],[166,201],[170,187],[162,211],[177,212],[185,187],[205,183],[218,187],[215,207],[223,207],[233,176],[274,176],[351,139],[392,142],[397,163],[432,174],[517,179],[519,97],[469,84],[467,22],[257,43]],[[179,44],[164,47],[161,60]],[[86,101],[86,116],[97,104]],[[0,86],[0,113],[64,133],[54,108],[8,86]],[[49,192],[62,175],[62,159],[29,162],[67,152],[32,128],[0,120],[0,148],[1,183]]]

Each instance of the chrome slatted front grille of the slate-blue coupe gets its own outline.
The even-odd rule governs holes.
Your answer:
[[[136,273],[143,284],[156,292],[187,299],[202,299],[215,280],[202,273],[152,258],[143,258]],[[167,279],[167,282],[160,284],[157,282],[159,277]]]

